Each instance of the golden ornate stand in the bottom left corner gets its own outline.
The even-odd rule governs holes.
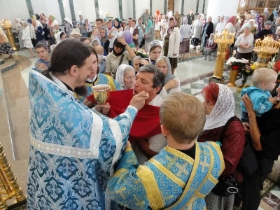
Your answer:
[[[15,197],[17,202],[26,200],[0,143],[0,209],[8,209],[6,200]]]

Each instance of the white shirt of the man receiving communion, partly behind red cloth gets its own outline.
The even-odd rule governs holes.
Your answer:
[[[162,102],[163,102],[163,100],[160,97],[160,95],[158,94],[149,103],[149,105],[161,106]],[[162,134],[158,134],[158,135],[155,135],[153,137],[150,137],[148,139],[148,144],[149,144],[149,148],[151,149],[151,151],[154,151],[155,153],[160,153],[160,150],[162,148],[165,148],[165,146],[167,146],[167,139]],[[148,161],[148,158],[140,151],[139,147],[136,144],[132,145],[132,148],[133,148],[133,151],[134,151],[135,155],[137,156],[137,160],[139,162],[139,165],[143,165],[144,162]]]

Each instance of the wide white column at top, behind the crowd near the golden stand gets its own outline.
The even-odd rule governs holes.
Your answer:
[[[217,20],[218,16],[233,16],[237,14],[239,1],[232,0],[209,0],[207,6],[207,16],[211,16],[213,23]]]

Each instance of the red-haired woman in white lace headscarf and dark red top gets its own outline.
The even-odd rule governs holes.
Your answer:
[[[235,116],[232,91],[225,85],[210,83],[204,87],[202,95],[207,120],[197,141],[218,141],[225,160],[225,170],[219,180],[232,176],[235,181],[241,182],[243,177],[237,171],[237,164],[244,150],[245,134],[241,121]],[[212,193],[205,197],[207,209],[233,209],[235,195],[220,197],[220,194],[221,192],[214,188]]]

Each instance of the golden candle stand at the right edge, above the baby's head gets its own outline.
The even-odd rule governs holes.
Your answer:
[[[268,35],[263,40],[257,39],[253,50],[257,52],[258,59],[255,68],[267,67],[270,57],[279,52],[280,42],[274,41],[272,35]]]

